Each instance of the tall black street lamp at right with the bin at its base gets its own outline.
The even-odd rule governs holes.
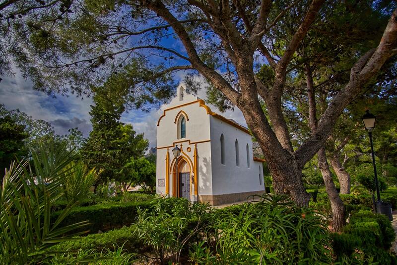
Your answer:
[[[372,154],[372,165],[374,167],[374,176],[375,176],[375,185],[376,185],[376,195],[378,201],[375,203],[375,211],[388,215],[390,220],[393,220],[392,215],[392,206],[390,203],[383,202],[381,200],[381,192],[379,191],[379,181],[378,181],[378,173],[376,171],[376,164],[375,164],[375,154],[374,154],[374,144],[372,142],[372,130],[375,127],[376,117],[374,114],[369,113],[369,110],[366,110],[366,113],[361,118],[364,128],[368,131],[369,141],[371,143],[371,154]]]

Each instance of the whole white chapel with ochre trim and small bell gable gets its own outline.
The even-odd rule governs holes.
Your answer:
[[[212,112],[183,84],[177,91],[157,122],[156,192],[210,205],[262,195],[264,160],[253,157],[250,131]]]

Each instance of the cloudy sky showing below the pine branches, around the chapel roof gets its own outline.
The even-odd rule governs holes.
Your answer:
[[[1,78],[0,104],[4,104],[7,109],[19,109],[34,119],[51,122],[57,134],[67,134],[68,129],[77,127],[84,137],[88,137],[92,130],[88,113],[90,105],[93,104],[91,98],[81,99],[75,95],[56,95],[56,97],[47,95],[45,92],[34,90],[30,80],[25,80],[19,72],[12,77],[2,76]],[[176,75],[176,81],[182,79],[183,74]],[[197,95],[205,100],[205,89],[199,89]],[[247,126],[238,108],[221,113],[215,106],[210,104],[208,106],[212,111]],[[123,113],[121,121],[132,124],[136,132],[144,133],[144,137],[149,140],[149,148],[156,147],[157,121],[164,108],[166,104],[161,105],[160,108],[153,108],[149,112],[131,110]]]

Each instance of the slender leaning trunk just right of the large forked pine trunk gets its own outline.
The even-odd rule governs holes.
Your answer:
[[[319,161],[319,169],[321,171],[321,174],[323,175],[328,198],[331,201],[332,230],[334,232],[341,232],[346,224],[345,208],[343,205],[343,201],[340,199],[339,194],[336,190],[335,184],[333,183],[330,167],[328,166],[327,162],[326,150],[324,147],[319,150],[317,156]]]

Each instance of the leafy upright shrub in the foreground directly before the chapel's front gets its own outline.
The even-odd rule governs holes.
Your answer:
[[[213,219],[214,210],[207,204],[192,204],[183,198],[156,198],[151,203],[151,212],[138,211],[135,231],[152,247],[161,264],[180,263],[182,249],[197,241],[199,232]]]

